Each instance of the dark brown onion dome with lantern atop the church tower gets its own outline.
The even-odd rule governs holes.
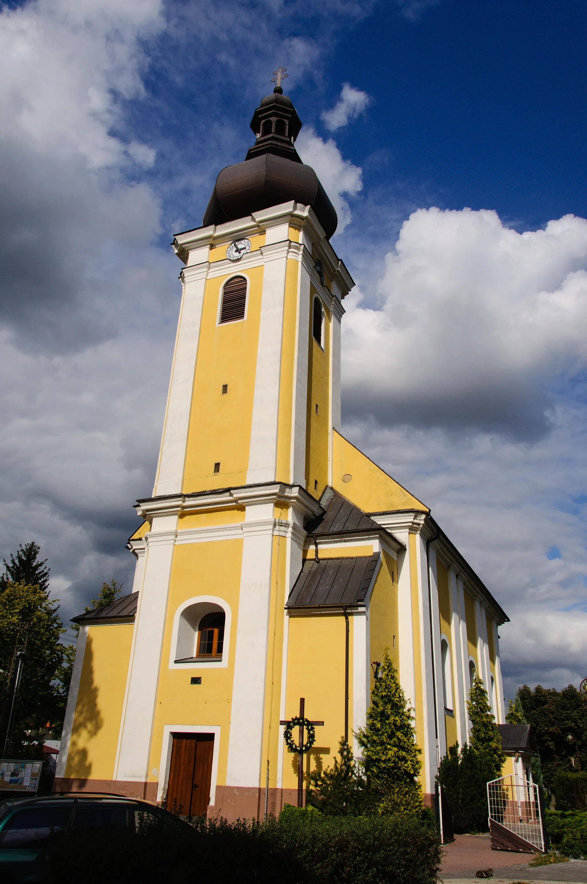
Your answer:
[[[251,129],[255,144],[243,163],[226,166],[218,175],[202,225],[224,224],[294,200],[312,207],[330,240],[339,220],[316,172],[294,148],[301,120],[280,86],[263,98]]]

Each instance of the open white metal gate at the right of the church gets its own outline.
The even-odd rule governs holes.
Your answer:
[[[544,852],[542,815],[538,787],[519,776],[501,776],[487,783],[489,821],[514,832],[519,838]]]

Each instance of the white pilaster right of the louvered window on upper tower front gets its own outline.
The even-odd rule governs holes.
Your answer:
[[[275,480],[288,245],[287,241],[278,242],[260,249],[263,293],[247,484]]]

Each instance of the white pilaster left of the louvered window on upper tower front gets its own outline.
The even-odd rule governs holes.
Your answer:
[[[202,301],[209,267],[210,264],[205,262],[186,267],[181,272],[183,294],[153,497],[181,492]]]

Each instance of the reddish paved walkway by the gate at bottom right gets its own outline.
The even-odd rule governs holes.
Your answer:
[[[571,859],[568,863],[539,865],[530,869],[533,858],[527,853],[492,850],[489,834],[457,834],[452,844],[443,847],[444,859],[438,878],[444,884],[480,884],[476,872],[493,869],[492,881],[576,881],[587,884],[587,860]]]

